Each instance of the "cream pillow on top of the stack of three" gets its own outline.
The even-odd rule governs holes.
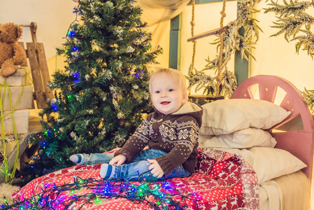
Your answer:
[[[201,135],[230,134],[248,127],[269,129],[289,116],[290,111],[257,99],[217,100],[203,105]]]

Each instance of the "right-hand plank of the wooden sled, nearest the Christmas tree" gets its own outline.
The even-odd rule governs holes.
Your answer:
[[[43,85],[45,87],[45,101],[47,99],[50,99],[50,101],[53,99],[52,90],[50,90],[47,87],[48,82],[50,82],[50,75],[48,70],[47,61],[45,59],[45,49],[43,48],[43,43],[37,43],[37,49],[38,49],[38,59],[39,59],[39,65],[41,69],[41,76],[43,78]]]

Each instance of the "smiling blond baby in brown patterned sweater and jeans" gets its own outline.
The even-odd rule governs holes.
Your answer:
[[[203,109],[187,102],[185,76],[176,69],[152,73],[149,88],[155,111],[120,150],[76,154],[70,160],[80,165],[104,162],[100,170],[104,179],[157,181],[190,176],[197,163]]]

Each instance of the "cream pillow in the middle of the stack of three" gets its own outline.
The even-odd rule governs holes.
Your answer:
[[[231,134],[217,136],[199,135],[201,148],[251,148],[253,146],[275,147],[277,141],[269,132],[255,127],[248,127]]]

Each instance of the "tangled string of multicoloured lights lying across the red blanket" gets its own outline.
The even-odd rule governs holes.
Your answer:
[[[82,189],[92,189],[93,193],[76,195],[78,190]],[[41,190],[42,192],[38,195],[15,202],[15,204],[2,204],[1,209],[58,209],[62,204],[64,209],[78,210],[85,204],[101,204],[102,200],[108,198],[125,198],[136,204],[147,204],[154,209],[185,209],[187,201],[194,202],[196,207],[198,201],[194,193],[184,195],[180,190],[172,188],[167,181],[131,183],[93,178],[80,179],[79,176],[73,176],[73,183],[65,183],[62,186],[48,183]],[[65,191],[71,195],[66,200],[65,195],[62,195]],[[75,207],[76,202],[81,203]]]

